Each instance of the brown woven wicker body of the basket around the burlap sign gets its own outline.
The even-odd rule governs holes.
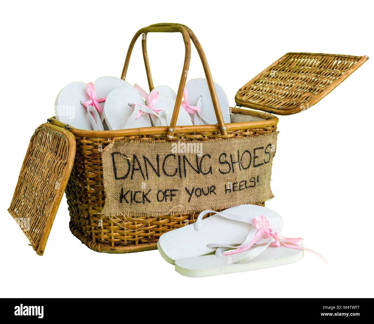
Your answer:
[[[275,122],[276,123],[276,122]],[[276,131],[276,125],[264,128],[230,131],[232,138],[253,137]],[[74,130],[73,130],[74,133]],[[105,194],[102,179],[101,151],[110,141],[128,139],[143,141],[205,141],[220,140],[222,135],[216,132],[191,132],[159,135],[134,135],[121,137],[82,137],[76,136],[76,159],[65,193],[70,211],[70,230],[82,243],[97,252],[126,253],[156,249],[159,237],[168,231],[193,223],[200,211],[184,215],[163,215],[153,218],[126,219],[118,215],[116,219],[103,218],[100,215],[104,207]],[[264,202],[257,202],[264,205]],[[209,216],[209,215],[207,215]]]

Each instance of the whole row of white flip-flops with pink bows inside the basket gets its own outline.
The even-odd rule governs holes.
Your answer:
[[[230,122],[226,94],[218,84],[215,87],[224,122]],[[95,131],[169,126],[176,98],[175,92],[165,85],[148,94],[138,85],[132,87],[122,79],[101,77],[94,84],[73,82],[63,88],[56,98],[55,116],[73,127]],[[189,81],[184,89],[177,125],[215,123],[207,81]]]

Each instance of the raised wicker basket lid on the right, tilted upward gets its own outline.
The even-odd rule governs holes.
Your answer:
[[[287,53],[240,88],[238,106],[292,115],[315,105],[369,57]]]

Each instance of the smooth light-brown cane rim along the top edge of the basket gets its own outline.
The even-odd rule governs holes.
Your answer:
[[[252,121],[252,122],[237,122],[226,124],[227,131],[245,130],[272,127],[278,124],[278,117],[271,115],[266,112],[259,112],[249,109],[231,108],[234,113],[242,113],[243,115],[254,116],[264,119],[263,121]],[[48,119],[50,123],[55,126],[66,128],[76,136],[82,137],[96,137],[96,138],[107,138],[107,137],[122,137],[132,135],[160,135],[168,134],[169,127],[141,127],[141,128],[130,128],[126,130],[114,130],[114,131],[91,131],[81,130],[74,128],[68,124],[58,121],[55,116]],[[191,126],[177,126],[175,127],[174,134],[183,133],[195,133],[195,132],[219,132],[220,128],[216,125],[191,125]]]

